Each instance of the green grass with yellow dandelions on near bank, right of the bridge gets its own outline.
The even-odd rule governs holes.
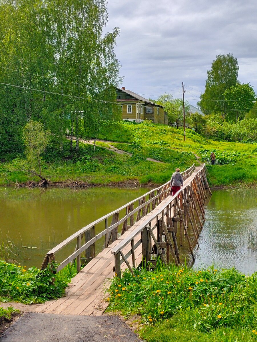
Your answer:
[[[138,314],[147,342],[257,341],[257,273],[157,265],[111,280],[108,311]]]

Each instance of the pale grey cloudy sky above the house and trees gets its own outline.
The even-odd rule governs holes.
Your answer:
[[[233,53],[238,79],[257,92],[256,0],[109,0],[107,31],[120,28],[115,53],[126,89],[153,99],[164,92],[196,105],[206,70]]]

